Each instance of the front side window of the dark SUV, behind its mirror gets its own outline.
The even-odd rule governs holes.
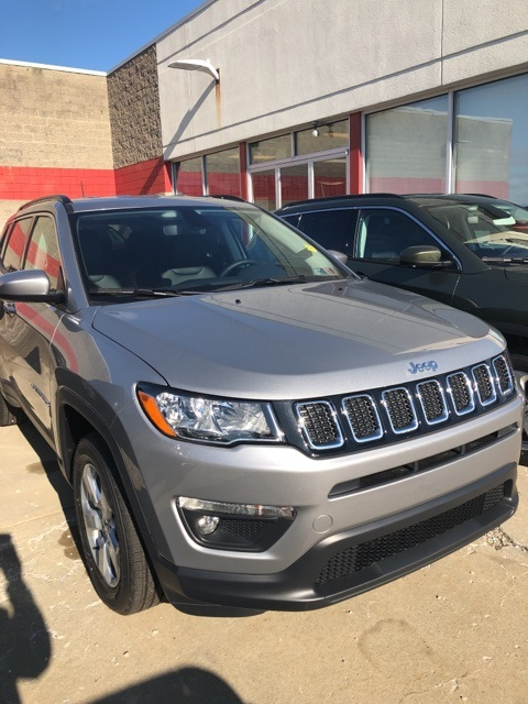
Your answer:
[[[439,246],[438,241],[405,212],[369,208],[361,211],[358,220],[353,257],[399,264],[403,250],[422,244]]]

